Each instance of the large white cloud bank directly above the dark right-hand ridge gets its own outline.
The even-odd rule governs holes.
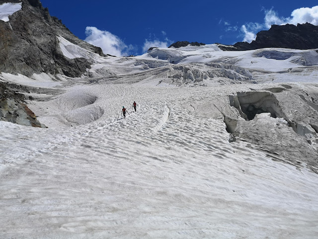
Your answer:
[[[301,7],[293,10],[290,17],[279,16],[273,9],[264,10],[265,17],[263,23],[249,22],[241,26],[240,31],[243,34],[243,41],[251,42],[256,39],[256,33],[259,30],[268,30],[271,25],[285,25],[309,22],[318,25],[318,6],[312,8]]]

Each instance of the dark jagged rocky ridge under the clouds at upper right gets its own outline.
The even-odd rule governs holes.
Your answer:
[[[219,48],[226,51],[245,51],[261,48],[291,48],[316,49],[318,48],[318,26],[311,23],[286,25],[272,25],[267,31],[260,31],[251,43],[238,42],[234,45],[221,45]]]

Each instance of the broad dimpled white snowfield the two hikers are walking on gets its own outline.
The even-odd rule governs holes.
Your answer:
[[[0,238],[317,237],[318,174],[257,142],[230,143],[213,107],[252,87],[294,86],[148,85],[74,86],[29,102],[46,129],[0,121]],[[294,132],[279,117],[257,120]]]

